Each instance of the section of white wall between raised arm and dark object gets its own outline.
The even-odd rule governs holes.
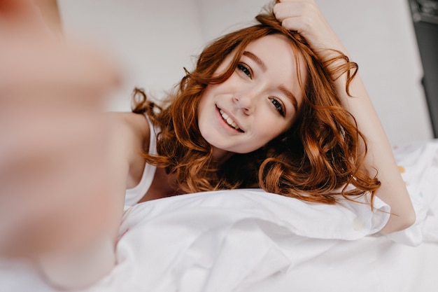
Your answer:
[[[390,141],[403,144],[431,138],[408,1],[317,2],[358,62]]]

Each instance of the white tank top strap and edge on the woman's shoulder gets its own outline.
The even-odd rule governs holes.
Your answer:
[[[157,132],[159,132],[159,129],[153,126],[147,115],[146,118],[148,119],[150,129],[149,154],[155,155],[157,154]],[[134,188],[128,188],[125,192],[125,206],[134,206],[148,192],[154,179],[155,169],[157,167],[148,163],[145,164],[139,184],[134,186]]]

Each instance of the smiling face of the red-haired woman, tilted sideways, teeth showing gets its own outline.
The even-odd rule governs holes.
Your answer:
[[[218,67],[225,71],[232,56]],[[306,78],[303,62],[299,68]],[[213,155],[249,153],[288,130],[302,104],[297,64],[285,36],[274,34],[251,42],[227,81],[208,85],[199,102],[202,137]]]

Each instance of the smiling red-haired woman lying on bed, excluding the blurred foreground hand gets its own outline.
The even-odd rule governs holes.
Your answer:
[[[82,206],[83,218],[62,214],[59,222],[78,226],[90,221],[92,227],[73,228],[76,233],[62,233],[50,244],[33,234],[31,241],[43,247],[24,246],[20,252],[31,254],[48,279],[62,286],[72,284],[71,270],[87,267],[88,277],[76,275],[73,283],[89,284],[113,266],[124,201],[132,205],[226,188],[260,187],[325,204],[372,193],[391,207],[381,232],[407,228],[415,220],[409,195],[356,73],[357,65],[313,0],[278,1],[257,15],[253,27],[207,46],[162,108],[134,90],[134,113],[112,113],[107,135],[101,137],[106,143],[99,140],[88,147],[104,147],[105,155],[88,150],[90,156],[83,156],[94,160],[74,161],[96,167],[101,159],[111,169],[104,176],[102,169],[93,168],[103,185],[78,176],[86,183],[79,183],[76,197],[80,202],[87,197],[84,202],[94,206],[99,202],[102,214],[72,204],[76,210]],[[103,127],[92,120],[90,125]],[[78,141],[90,138],[82,135]],[[61,154],[50,155],[55,159]],[[80,172],[81,167],[71,169]],[[84,239],[73,240],[79,237]],[[53,252],[54,246],[61,247]]]

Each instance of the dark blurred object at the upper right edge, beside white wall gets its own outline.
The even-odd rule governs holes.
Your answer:
[[[423,64],[421,81],[428,101],[435,138],[438,138],[438,0],[409,0]]]

